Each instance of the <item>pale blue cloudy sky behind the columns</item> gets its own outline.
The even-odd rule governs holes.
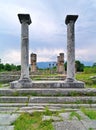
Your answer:
[[[21,24],[17,14],[30,14],[29,56],[37,62],[67,60],[66,15],[79,15],[75,23],[75,59],[96,62],[96,0],[0,0],[0,59],[20,64]],[[29,57],[30,61],[30,57]]]

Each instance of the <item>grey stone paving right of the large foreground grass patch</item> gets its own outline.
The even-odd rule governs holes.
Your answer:
[[[82,112],[78,113],[81,120],[76,117],[69,119],[69,113],[61,113],[63,121],[53,123],[55,130],[96,130],[96,120],[90,120]]]

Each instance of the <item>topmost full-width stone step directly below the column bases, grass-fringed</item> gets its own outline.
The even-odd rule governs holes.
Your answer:
[[[0,96],[96,96],[94,88],[0,89]]]

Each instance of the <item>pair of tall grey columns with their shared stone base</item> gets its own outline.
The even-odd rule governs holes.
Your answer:
[[[84,83],[75,79],[75,22],[78,15],[67,15],[65,24],[67,25],[67,77],[63,82],[44,81],[32,82],[29,78],[29,31],[31,24],[29,14],[18,14],[21,23],[21,77],[18,81],[11,82],[11,88],[31,88],[38,86],[62,87],[62,88],[84,88]]]

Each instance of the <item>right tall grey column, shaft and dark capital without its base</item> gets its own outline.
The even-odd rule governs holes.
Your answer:
[[[75,22],[78,15],[67,15],[65,23],[67,25],[67,81],[75,80]]]

